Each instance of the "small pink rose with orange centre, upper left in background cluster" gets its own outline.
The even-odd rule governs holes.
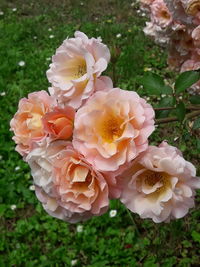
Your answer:
[[[172,16],[163,0],[155,0],[151,5],[152,21],[161,27],[172,23]]]

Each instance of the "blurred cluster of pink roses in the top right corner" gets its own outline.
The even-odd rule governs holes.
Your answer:
[[[200,69],[200,1],[140,0],[150,14],[145,34],[168,47],[168,64],[181,72]],[[200,82],[191,93],[200,94]]]

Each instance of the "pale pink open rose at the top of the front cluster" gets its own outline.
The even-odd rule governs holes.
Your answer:
[[[79,108],[94,93],[109,60],[109,49],[100,38],[89,39],[84,33],[75,32],[75,38],[66,39],[52,57],[47,71],[52,84],[50,94],[57,97],[59,104]],[[106,77],[104,83],[108,80],[111,82]]]

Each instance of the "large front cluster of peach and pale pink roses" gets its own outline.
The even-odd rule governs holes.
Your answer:
[[[154,110],[101,76],[109,59],[100,38],[75,32],[52,57],[50,95],[20,100],[10,125],[36,196],[72,223],[105,213],[114,198],[154,222],[181,218],[200,188],[195,168],[166,142],[148,146]]]

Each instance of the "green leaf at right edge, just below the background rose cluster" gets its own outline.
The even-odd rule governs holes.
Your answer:
[[[200,79],[198,71],[186,71],[179,75],[175,82],[175,89],[177,93],[181,93]]]

